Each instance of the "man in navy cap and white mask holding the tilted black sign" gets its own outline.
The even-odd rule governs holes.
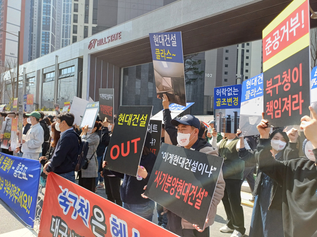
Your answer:
[[[209,144],[205,139],[198,137],[201,127],[198,118],[195,118],[191,115],[185,115],[180,119],[172,119],[170,123],[177,127],[177,146],[218,156],[216,148],[213,148],[211,144]],[[189,223],[188,221],[175,215],[171,211],[167,212],[168,224],[166,229],[182,237],[209,237],[209,226],[211,226],[214,222],[217,205],[223,197],[224,186],[222,172],[220,172],[204,230],[200,229],[200,227],[197,225]]]

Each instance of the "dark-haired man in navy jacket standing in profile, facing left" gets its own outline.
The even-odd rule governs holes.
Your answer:
[[[63,112],[57,115],[55,129],[60,131],[60,138],[55,147],[53,157],[43,168],[44,173],[54,172],[75,183],[75,165],[78,156],[79,141],[72,125],[74,115]]]

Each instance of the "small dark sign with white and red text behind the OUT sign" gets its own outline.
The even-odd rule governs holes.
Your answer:
[[[99,89],[99,118],[113,123],[113,88]]]

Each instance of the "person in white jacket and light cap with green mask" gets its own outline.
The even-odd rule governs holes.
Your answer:
[[[44,131],[39,123],[41,115],[35,111],[26,115],[29,116],[27,119],[29,120],[28,122],[31,122],[32,126],[22,141],[19,141],[22,144],[22,158],[39,159],[44,142]]]

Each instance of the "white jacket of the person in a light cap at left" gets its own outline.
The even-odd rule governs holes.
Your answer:
[[[21,152],[26,155],[39,155],[42,152],[44,142],[44,130],[40,123],[37,123],[29,129],[23,138],[25,143],[22,144]],[[42,154],[45,156],[46,154]]]

